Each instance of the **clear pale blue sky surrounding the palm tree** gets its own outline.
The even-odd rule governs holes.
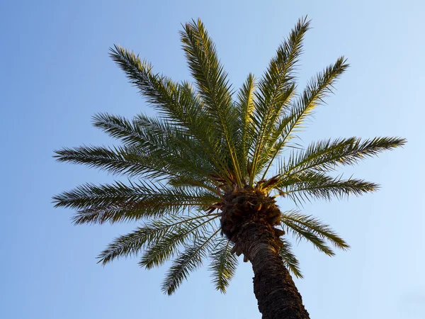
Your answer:
[[[109,59],[114,43],[189,79],[178,31],[200,17],[238,87],[249,72],[261,76],[305,14],[313,28],[300,86],[339,55],[351,67],[302,141],[397,135],[408,144],[346,169],[381,184],[378,193],[305,205],[352,248],[329,258],[297,245],[305,279],[295,282],[314,319],[424,318],[424,13],[421,0],[1,1],[0,318],[261,318],[249,264],[226,295],[200,269],[171,297],[159,289],[164,267],[146,271],[137,258],[96,264],[135,225],[77,227],[72,211],[53,209],[52,195],[114,177],[52,155],[111,144],[91,126],[94,113],[153,114]]]

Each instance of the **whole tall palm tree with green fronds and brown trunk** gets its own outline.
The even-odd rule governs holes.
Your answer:
[[[120,145],[55,151],[60,162],[128,177],[125,183],[84,184],[54,197],[56,207],[77,211],[75,224],[140,221],[101,252],[99,263],[141,254],[140,266],[151,269],[173,259],[162,284],[171,294],[208,259],[215,288],[224,293],[243,254],[254,270],[263,318],[309,318],[290,276],[302,274],[286,234],[329,256],[334,252],[328,243],[342,250],[348,245],[321,220],[280,211],[276,198],[298,206],[311,198],[375,191],[377,184],[329,172],[405,142],[339,138],[297,147],[297,133],[348,67],[339,57],[295,93],[295,67],[309,26],[301,18],[263,77],[249,74],[237,94],[200,20],[186,23],[180,33],[194,86],[154,73],[123,47],[111,49],[130,83],[159,113],[131,121],[97,114],[94,125]]]

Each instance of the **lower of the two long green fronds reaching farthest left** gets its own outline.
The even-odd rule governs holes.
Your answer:
[[[130,185],[122,182],[100,186],[84,184],[53,197],[55,207],[79,210],[74,216],[77,224],[154,218],[199,206],[206,208],[217,199],[215,194],[196,188],[149,186],[142,182],[130,182]]]

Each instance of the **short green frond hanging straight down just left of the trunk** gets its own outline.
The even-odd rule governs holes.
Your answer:
[[[215,289],[222,293],[226,292],[238,264],[237,257],[231,252],[232,247],[233,243],[222,237],[210,254],[212,283],[215,285]]]

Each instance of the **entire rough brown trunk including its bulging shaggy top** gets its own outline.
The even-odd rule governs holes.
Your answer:
[[[261,188],[244,187],[225,194],[220,222],[222,233],[234,242],[232,252],[252,264],[263,319],[310,319],[279,254],[285,232],[273,226],[280,218],[273,197]]]

